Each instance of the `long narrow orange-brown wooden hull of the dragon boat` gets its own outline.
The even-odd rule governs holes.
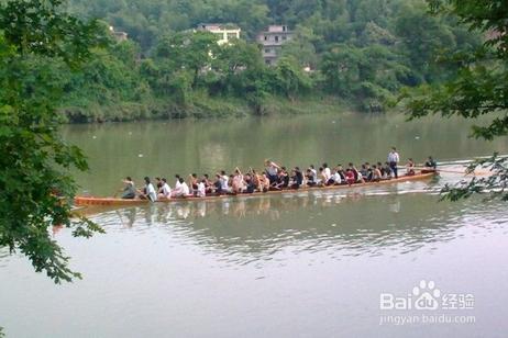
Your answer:
[[[338,190],[338,189],[355,189],[355,188],[364,188],[364,187],[376,187],[376,185],[384,185],[384,184],[401,183],[406,181],[427,180],[427,179],[431,179],[435,174],[437,174],[435,172],[422,171],[413,176],[401,176],[397,179],[382,180],[378,182],[354,183],[351,185],[341,184],[341,185],[328,185],[328,187],[302,187],[300,189],[286,189],[286,190],[275,190],[275,191],[267,191],[267,192],[241,193],[241,194],[235,194],[235,195],[233,194],[208,195],[206,198],[187,196],[187,198],[178,198],[178,199],[169,199],[169,200],[159,200],[155,203],[174,203],[174,202],[185,202],[185,201],[207,201],[207,200],[232,199],[232,198],[250,198],[250,196],[266,195],[266,194],[300,193],[302,191],[329,191],[329,190]],[[74,204],[76,206],[143,205],[143,204],[148,204],[148,203],[151,203],[148,200],[141,200],[141,199],[124,200],[124,199],[117,199],[117,198],[95,198],[95,196],[76,196],[74,199]]]

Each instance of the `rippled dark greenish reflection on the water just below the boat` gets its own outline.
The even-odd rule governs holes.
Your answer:
[[[455,238],[461,205],[432,195],[358,193],[261,196],[129,207],[124,225],[157,226],[224,261],[246,263],[276,252],[395,255]],[[111,214],[114,217],[113,214]]]

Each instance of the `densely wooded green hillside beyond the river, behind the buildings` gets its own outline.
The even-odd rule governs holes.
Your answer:
[[[63,105],[84,122],[265,114],[309,100],[379,111],[400,88],[455,69],[434,52],[481,42],[421,0],[73,0],[68,10],[129,36],[69,75]],[[238,25],[241,38],[218,46],[192,33],[199,23]],[[275,66],[255,40],[270,24],[291,30]]]

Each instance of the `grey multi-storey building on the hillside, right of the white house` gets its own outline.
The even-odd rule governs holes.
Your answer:
[[[292,38],[294,33],[287,25],[270,25],[257,34],[257,42],[263,46],[262,54],[266,65],[275,65],[283,45]]]

